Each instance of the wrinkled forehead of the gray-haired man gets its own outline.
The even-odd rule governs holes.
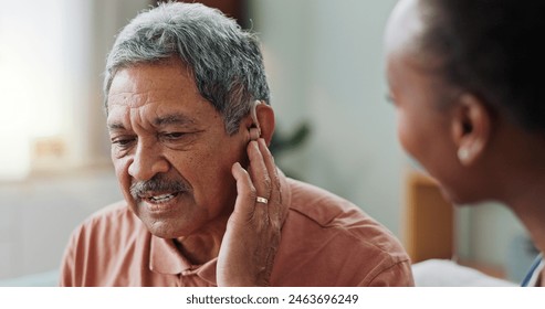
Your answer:
[[[192,75],[182,66],[169,64],[138,64],[118,71],[107,108],[111,128],[135,120],[190,124],[217,116],[197,89]]]

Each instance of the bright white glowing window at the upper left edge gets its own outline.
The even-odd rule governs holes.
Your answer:
[[[66,127],[66,0],[0,0],[0,180],[24,178],[32,142]]]

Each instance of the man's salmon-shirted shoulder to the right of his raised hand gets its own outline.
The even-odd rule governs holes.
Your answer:
[[[352,202],[287,180],[274,283],[287,286],[410,286],[410,262],[397,237]],[[294,267],[297,265],[296,270]],[[283,270],[285,266],[289,271]]]

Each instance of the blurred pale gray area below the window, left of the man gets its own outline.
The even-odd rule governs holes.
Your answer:
[[[75,226],[122,199],[112,171],[0,185],[0,279],[59,268]]]

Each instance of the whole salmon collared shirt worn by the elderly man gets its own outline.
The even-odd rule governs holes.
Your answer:
[[[289,215],[271,286],[413,286],[410,259],[386,227],[323,189],[286,182]],[[191,264],[118,202],[74,231],[60,285],[209,287],[217,285],[216,264]]]

